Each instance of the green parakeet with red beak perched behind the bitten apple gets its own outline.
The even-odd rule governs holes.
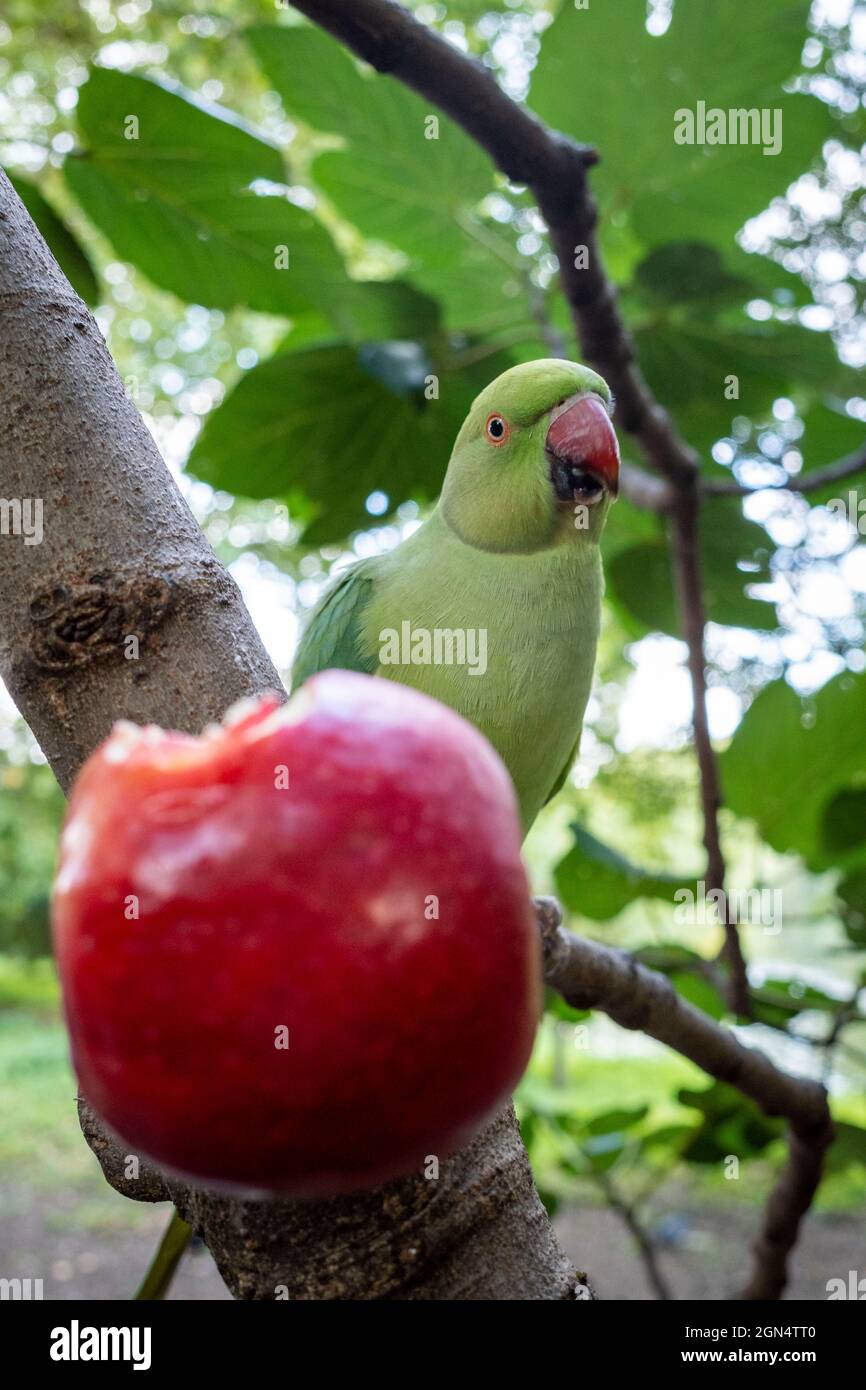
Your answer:
[[[610,391],[578,363],[512,367],[466,417],[432,513],[341,574],[313,612],[292,688],[328,667],[384,676],[475,724],[524,833],[574,762],[619,486]]]

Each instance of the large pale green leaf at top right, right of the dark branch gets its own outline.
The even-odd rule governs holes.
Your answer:
[[[662,36],[645,0],[563,4],[545,31],[530,104],[601,150],[599,203],[645,245],[723,245],[808,168],[833,129],[813,97],[785,95],[799,67],[809,0],[687,0]],[[627,95],[627,96],[626,96]],[[678,145],[676,113],[698,101],[783,113],[776,156],[760,145]]]

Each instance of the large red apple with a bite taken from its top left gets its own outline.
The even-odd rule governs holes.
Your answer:
[[[53,902],[85,1098],[209,1187],[420,1173],[530,1056],[520,840],[489,744],[392,681],[325,671],[202,738],[115,726],[75,784]]]

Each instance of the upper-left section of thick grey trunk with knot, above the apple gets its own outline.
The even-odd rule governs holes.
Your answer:
[[[43,539],[0,550],[0,670],[68,791],[117,719],[202,730],[278,689],[90,313],[0,171],[0,495]]]

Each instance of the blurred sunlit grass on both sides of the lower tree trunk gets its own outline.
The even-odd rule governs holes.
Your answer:
[[[0,1005],[6,1005],[0,1006],[0,1187],[10,1200],[17,1200],[15,1193],[21,1198],[21,1190],[33,1193],[33,1200],[54,1194],[50,1220],[58,1229],[75,1223],[88,1229],[140,1225],[147,1219],[146,1208],[124,1201],[107,1187],[81,1137],[75,1077],[51,963],[0,956]],[[612,1038],[614,1047],[626,1045],[607,1033],[602,1034],[602,1044]],[[567,1047],[564,1056],[555,1058],[557,1045],[545,1024],[520,1093],[531,1108],[544,1108],[545,1097],[562,1102],[564,1094],[575,1115],[648,1105],[652,1127],[694,1120],[695,1112],[678,1104],[677,1091],[701,1090],[708,1079],[676,1054],[655,1044],[642,1047],[638,1040],[634,1052],[605,1056],[599,1055],[605,1047],[599,1049],[594,1042],[591,1052]],[[556,1066],[562,1076],[557,1087],[552,1083]],[[834,1113],[837,1119],[866,1126],[866,1098],[841,1097],[834,1102]],[[774,1145],[760,1161],[744,1165],[740,1182],[726,1182],[717,1165],[678,1165],[676,1179],[698,1201],[756,1205],[765,1200],[783,1152],[783,1145]],[[817,1205],[838,1212],[865,1204],[866,1165],[851,1165],[826,1180]]]

